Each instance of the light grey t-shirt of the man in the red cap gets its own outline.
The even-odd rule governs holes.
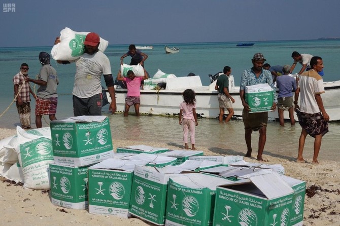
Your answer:
[[[93,55],[84,53],[76,61],[76,76],[72,94],[89,98],[101,93],[101,74],[112,74],[109,58],[98,51]]]

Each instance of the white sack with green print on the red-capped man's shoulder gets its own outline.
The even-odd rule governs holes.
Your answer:
[[[68,27],[60,31],[60,43],[54,45],[51,56],[55,60],[76,60],[85,52],[84,41],[90,32],[77,32]],[[109,42],[100,37],[98,49],[104,53]]]

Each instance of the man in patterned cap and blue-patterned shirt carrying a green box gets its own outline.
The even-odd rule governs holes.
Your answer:
[[[271,88],[274,89],[273,78],[269,70],[262,68],[264,59],[262,53],[256,53],[252,59],[253,67],[245,70],[242,73],[241,85],[240,85],[240,96],[242,105],[244,107],[242,112],[242,119],[245,126],[245,140],[247,144],[247,154],[246,157],[252,156],[252,146],[251,146],[251,135],[253,131],[259,131],[259,141],[258,141],[258,154],[257,160],[263,161],[262,153],[266,141],[267,132],[267,122],[268,122],[268,112],[254,112],[250,113],[250,107],[245,100],[245,89],[246,86],[252,86],[257,84],[267,83]],[[277,104],[277,94],[275,93],[275,98],[271,110],[276,109]]]

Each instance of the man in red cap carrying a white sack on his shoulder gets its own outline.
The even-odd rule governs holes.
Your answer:
[[[60,42],[59,37],[54,44]],[[114,81],[109,58],[98,50],[99,35],[88,33],[85,37],[85,53],[74,61],[60,61],[67,64],[76,62],[76,75],[73,87],[73,112],[74,116],[100,116],[101,115],[101,74],[104,75],[108,87],[111,104],[109,110],[112,114],[116,111],[116,96]]]

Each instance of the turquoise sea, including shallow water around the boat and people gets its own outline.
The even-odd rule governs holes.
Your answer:
[[[52,41],[53,42],[53,41]],[[253,47],[236,47],[236,42],[226,43],[178,43],[168,44],[169,47],[175,46],[180,48],[177,54],[165,54],[164,45],[166,44],[139,44],[136,45],[152,45],[153,50],[142,50],[149,55],[145,62],[145,68],[149,72],[150,77],[157,72],[158,69],[165,73],[176,74],[177,77],[187,76],[189,72],[200,76],[203,85],[209,85],[210,80],[208,74],[215,74],[223,70],[225,65],[232,68],[232,75],[235,79],[235,85],[239,86],[241,74],[245,69],[252,66],[251,58],[257,52],[264,54],[267,63],[271,65],[291,65],[293,59],[291,53],[297,51],[299,53],[308,53],[314,56],[321,56],[324,62],[324,81],[340,80],[340,40],[309,40],[309,41],[266,41],[256,42]],[[20,64],[23,62],[29,65],[29,75],[34,78],[41,68],[38,55],[41,51],[50,52],[51,47],[24,47],[24,48],[0,48],[0,114],[9,106],[13,100],[13,76],[19,72]],[[128,45],[109,45],[105,54],[111,61],[111,68],[114,77],[120,68],[120,57],[127,52]],[[129,63],[129,57],[124,59],[124,63]],[[61,65],[55,61],[51,61],[52,66],[57,70],[59,77],[58,86],[58,108],[57,118],[73,116],[72,109],[72,89],[75,74],[75,65]],[[294,72],[298,72],[301,66],[297,65]],[[103,85],[104,79],[102,82]],[[31,84],[33,86],[33,84]],[[35,101],[31,102],[32,113],[34,112]],[[108,108],[104,108],[105,113],[108,113]],[[48,118],[48,117],[47,117]],[[32,126],[34,125],[35,117],[32,114]],[[133,128],[133,134],[146,134],[150,141],[164,140],[164,142],[176,142],[182,144],[182,130],[178,125],[178,119],[164,117],[140,117],[140,119],[129,116],[128,119],[122,120],[122,115],[115,114],[110,117],[112,129],[116,136],[124,137],[126,131]],[[19,117],[15,104],[13,104],[7,112],[0,118],[0,127],[15,128],[19,125]],[[43,122],[43,125],[48,125]],[[166,128],[165,128],[166,125]],[[269,128],[269,127],[268,127]],[[270,123],[270,134],[275,134],[275,137],[269,136],[267,140],[277,139],[277,136],[282,140],[289,141],[290,151],[295,152],[297,149],[297,140],[300,133],[300,127],[296,124],[290,128],[286,126],[281,128],[277,122]],[[125,132],[124,132],[125,131]],[[166,131],[166,132],[163,132]],[[229,134],[233,136],[234,143],[244,145],[244,130],[242,121],[233,121],[231,124],[220,125],[214,119],[200,119],[199,126],[196,132],[196,143],[209,146],[210,143],[218,144],[221,147],[228,146],[223,135]],[[320,152],[320,158],[333,159],[332,154],[337,152],[336,147],[339,146],[338,137],[340,135],[339,123],[332,123],[330,132],[325,135],[323,145],[327,145],[327,152]],[[281,137],[282,136],[282,137]],[[135,136],[135,139],[144,139],[145,136]],[[225,136],[227,137],[227,136]],[[254,138],[255,139],[255,138]],[[257,139],[257,138],[256,138]],[[268,143],[269,141],[267,141]],[[327,143],[327,144],[325,144]],[[255,144],[255,143],[254,143]],[[284,146],[286,143],[278,144]],[[231,145],[231,144],[230,144]],[[275,145],[269,144],[269,145]],[[278,151],[275,147],[266,147],[272,152]],[[322,146],[323,149],[324,146]],[[255,149],[255,147],[253,147]],[[280,148],[279,148],[280,149]],[[285,148],[282,148],[283,150]],[[266,148],[265,148],[266,150]],[[330,152],[330,153],[328,153]],[[328,153],[326,155],[326,153]],[[339,157],[337,157],[340,160]]]

